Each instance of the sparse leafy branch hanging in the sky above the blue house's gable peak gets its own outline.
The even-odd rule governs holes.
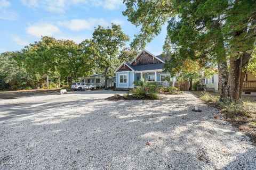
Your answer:
[[[140,27],[140,33],[135,35],[131,47],[145,48],[156,35],[161,32],[162,25],[175,13],[172,10],[172,1],[134,1],[124,0],[126,10],[124,16],[136,27]]]

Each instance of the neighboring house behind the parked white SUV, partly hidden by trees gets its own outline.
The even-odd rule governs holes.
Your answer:
[[[90,77],[80,78],[80,82],[89,83],[97,88],[103,88],[105,86],[105,78],[103,73],[92,74]],[[108,87],[113,87],[115,82],[115,77],[108,79]]]

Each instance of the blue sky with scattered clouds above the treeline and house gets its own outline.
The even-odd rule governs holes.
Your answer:
[[[0,53],[20,50],[41,36],[81,43],[92,38],[94,27],[120,24],[132,40],[139,32],[122,15],[123,0],[0,0]],[[145,49],[162,53],[166,27]],[[130,42],[127,43],[129,46]]]

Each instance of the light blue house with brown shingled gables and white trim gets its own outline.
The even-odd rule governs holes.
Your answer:
[[[145,79],[161,86],[169,86],[169,82],[165,78],[170,77],[170,74],[163,72],[163,69],[164,58],[162,56],[155,56],[147,50],[142,50],[131,63],[123,62],[115,71],[116,89],[133,89],[133,82],[140,79]],[[175,81],[175,78],[171,80]]]

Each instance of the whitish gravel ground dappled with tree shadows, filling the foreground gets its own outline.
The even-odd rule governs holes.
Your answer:
[[[249,138],[189,92],[145,101],[33,98],[9,108],[1,101],[0,112],[5,105],[27,114],[0,121],[0,160],[35,164],[0,169],[256,169]],[[195,104],[202,113],[191,112]]]

